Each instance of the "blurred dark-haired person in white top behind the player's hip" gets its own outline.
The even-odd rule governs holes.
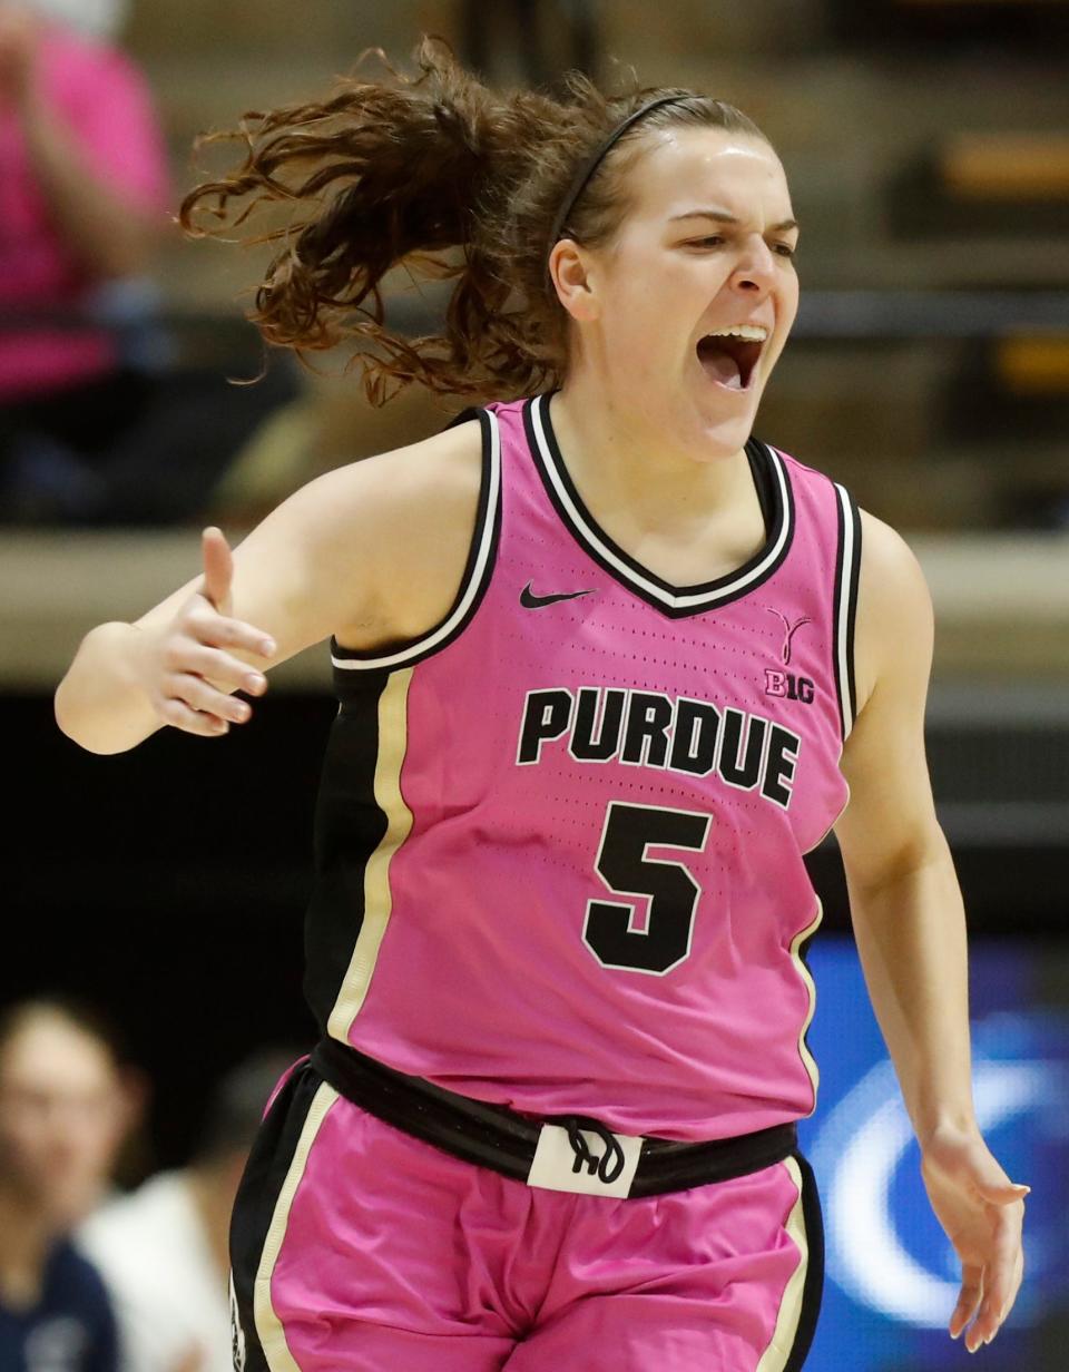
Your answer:
[[[228,1232],[252,1137],[295,1054],[268,1052],[215,1088],[192,1162],[97,1211],[80,1244],[102,1272],[124,1372],[229,1372]]]

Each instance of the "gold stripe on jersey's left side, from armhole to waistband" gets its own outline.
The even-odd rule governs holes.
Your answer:
[[[390,863],[412,831],[412,811],[401,794],[401,766],[408,749],[408,697],[413,670],[408,667],[391,674],[379,697],[375,801],[386,815],[386,833],[364,868],[364,922],[327,1021],[327,1032],[342,1043],[349,1041],[349,1030],[364,1006],[394,908]]]

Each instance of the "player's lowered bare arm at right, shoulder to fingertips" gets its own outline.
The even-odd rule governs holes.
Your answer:
[[[855,627],[859,711],[843,752],[851,799],[836,825],[865,980],[921,1146],[936,1216],[961,1258],[950,1321],[991,1342],[1017,1297],[1026,1188],[976,1122],[965,910],[936,819],[924,744],[932,598],[904,541],[862,513]]]

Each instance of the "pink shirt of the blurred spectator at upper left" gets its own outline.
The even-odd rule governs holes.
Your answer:
[[[40,80],[82,144],[86,165],[140,210],[169,209],[167,165],[147,84],[113,48],[49,27]],[[0,321],[22,310],[77,310],[99,283],[54,226],[18,115],[0,107]],[[104,331],[0,329],[0,403],[106,375],[117,351]]]

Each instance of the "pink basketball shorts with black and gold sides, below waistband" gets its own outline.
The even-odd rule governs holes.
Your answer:
[[[615,1199],[527,1185],[301,1063],[231,1232],[239,1372],[797,1372],[822,1283],[799,1155]]]

